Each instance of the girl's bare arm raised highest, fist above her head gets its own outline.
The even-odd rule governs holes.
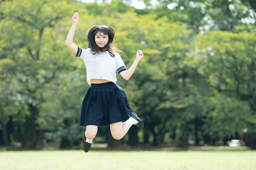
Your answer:
[[[76,54],[77,53],[77,50],[78,50],[78,47],[76,44],[73,43],[73,37],[74,37],[74,33],[75,33],[75,30],[76,30],[76,26],[78,24],[78,20],[79,20],[79,14],[78,12],[75,12],[73,17],[72,17],[72,20],[73,20],[73,25],[72,27],[70,28],[70,31],[69,33],[67,34],[67,39],[66,39],[66,43],[65,45],[74,53]]]

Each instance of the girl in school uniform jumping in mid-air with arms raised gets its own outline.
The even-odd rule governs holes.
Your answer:
[[[90,150],[90,146],[98,126],[110,125],[114,139],[122,139],[132,125],[144,127],[136,113],[130,111],[125,91],[116,85],[116,73],[125,80],[130,79],[135,71],[143,52],[138,50],[134,63],[127,70],[118,48],[111,47],[115,32],[109,26],[95,26],[90,29],[87,39],[88,48],[83,49],[73,43],[73,36],[79,21],[79,14],[74,13],[73,25],[67,35],[66,45],[73,51],[76,57],[84,60],[87,69],[87,83],[90,88],[87,91],[81,108],[80,125],[86,126],[83,143],[84,152]]]

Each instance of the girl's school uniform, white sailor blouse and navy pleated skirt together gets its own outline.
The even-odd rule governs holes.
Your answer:
[[[80,125],[105,126],[124,122],[132,116],[125,91],[116,85],[116,71],[127,70],[120,55],[111,51],[93,54],[90,48],[78,47],[76,57],[84,60],[87,83],[90,88],[84,97]],[[91,84],[90,79],[107,79],[110,82]]]

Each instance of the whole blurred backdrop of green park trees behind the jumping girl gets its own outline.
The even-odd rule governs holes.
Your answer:
[[[89,85],[65,46],[74,12],[76,45],[108,25],[127,67],[144,53],[117,84],[145,127],[118,141],[99,127],[94,147],[256,149],[255,0],[0,0],[2,150],[81,149]]]

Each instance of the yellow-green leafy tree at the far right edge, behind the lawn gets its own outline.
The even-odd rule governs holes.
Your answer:
[[[213,131],[222,133],[220,136],[241,133],[244,128],[250,132],[255,129],[254,37],[253,33],[244,35],[222,31],[198,35],[198,53],[195,54],[199,61],[198,71],[209,77],[215,93],[211,99],[215,106],[209,110],[206,125],[212,122]]]

